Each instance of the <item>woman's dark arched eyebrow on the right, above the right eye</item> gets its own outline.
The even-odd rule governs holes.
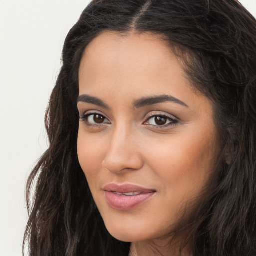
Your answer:
[[[133,102],[133,106],[135,108],[139,108],[139,107],[143,107],[143,106],[147,106],[147,105],[162,103],[165,101],[174,102],[174,103],[180,104],[182,106],[188,107],[188,105],[186,103],[184,103],[183,101],[181,101],[173,96],[165,95],[165,94],[158,95],[158,96],[143,97],[143,98],[137,99]]]

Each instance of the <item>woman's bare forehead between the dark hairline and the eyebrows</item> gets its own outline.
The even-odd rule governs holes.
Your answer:
[[[118,103],[168,94],[200,108],[210,104],[190,84],[166,40],[152,34],[105,31],[84,50],[79,68],[79,95],[89,94]],[[202,110],[202,109],[201,109]]]

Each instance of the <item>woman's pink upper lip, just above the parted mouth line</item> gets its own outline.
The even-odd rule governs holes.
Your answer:
[[[115,184],[110,183],[103,187],[105,191],[112,191],[118,193],[128,193],[128,192],[139,192],[139,193],[152,193],[155,192],[155,189],[145,188],[138,185],[132,184]]]

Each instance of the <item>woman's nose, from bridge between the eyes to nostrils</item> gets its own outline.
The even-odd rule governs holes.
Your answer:
[[[115,174],[138,170],[143,166],[138,139],[132,131],[117,128],[112,132],[102,166]]]

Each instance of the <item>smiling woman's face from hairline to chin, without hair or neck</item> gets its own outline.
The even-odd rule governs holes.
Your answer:
[[[84,51],[77,106],[79,162],[110,234],[168,234],[214,171],[211,102],[164,41],[108,31]]]

